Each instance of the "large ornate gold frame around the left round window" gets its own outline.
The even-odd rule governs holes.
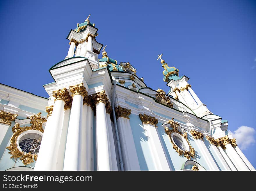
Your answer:
[[[39,112],[37,115],[32,115],[30,117],[31,119],[31,126],[24,126],[24,127],[20,127],[18,123],[16,123],[14,125],[14,127],[12,128],[13,131],[13,135],[10,139],[10,146],[6,147],[6,149],[8,149],[10,152],[8,152],[10,155],[12,155],[10,158],[19,158],[22,157],[20,160],[22,160],[22,162],[24,163],[24,165],[33,163],[33,160],[31,158],[31,156],[35,158],[35,154],[31,154],[31,153],[25,153],[22,151],[19,151],[18,147],[17,147],[17,138],[18,136],[27,130],[37,130],[40,132],[44,132],[44,129],[42,128],[42,124],[44,122],[46,122],[47,120],[45,118],[41,118],[41,112]],[[37,156],[36,156],[37,158]]]

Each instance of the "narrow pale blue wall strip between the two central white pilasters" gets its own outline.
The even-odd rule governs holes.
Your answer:
[[[135,148],[141,170],[156,170],[153,157],[150,151],[148,138],[145,135],[143,124],[138,115],[130,116],[131,131],[134,138]]]

